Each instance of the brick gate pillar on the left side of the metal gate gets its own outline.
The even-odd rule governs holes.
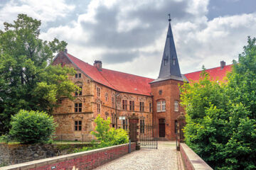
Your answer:
[[[136,149],[139,149],[139,118],[132,114],[129,118],[129,139],[136,142]]]

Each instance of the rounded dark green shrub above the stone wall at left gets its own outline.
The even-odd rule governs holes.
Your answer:
[[[10,135],[21,143],[48,142],[56,126],[53,116],[43,111],[21,110],[11,117]]]

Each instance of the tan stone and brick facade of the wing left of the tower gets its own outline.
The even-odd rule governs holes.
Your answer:
[[[75,96],[74,101],[68,98],[60,98],[60,106],[53,111],[53,118],[58,123],[56,128],[57,140],[93,140],[90,134],[95,128],[94,120],[98,114],[102,118],[114,119],[114,127],[123,128],[122,120],[119,117],[128,118],[133,113],[144,120],[146,125],[152,125],[153,113],[149,111],[149,103],[152,103],[151,96],[143,96],[138,94],[128,94],[119,91],[114,91],[107,86],[99,84],[87,75],[80,72],[80,70],[73,65],[63,52],[60,52],[58,57],[54,60],[53,64],[62,63],[65,66],[73,67],[81,77],[69,77],[76,85],[82,86],[82,95]],[[100,96],[97,95],[97,88],[100,89]],[[112,97],[116,104],[112,106]],[[122,100],[127,100],[127,110],[122,108]],[[134,101],[134,111],[129,111],[129,101]],[[139,102],[144,102],[144,111],[139,111]],[[75,113],[75,103],[82,103],[82,111]],[[97,106],[100,104],[100,112]],[[75,130],[75,121],[82,122],[81,130]],[[127,120],[128,123],[128,120]],[[112,126],[112,125],[111,125]],[[127,125],[127,128],[129,125]]]

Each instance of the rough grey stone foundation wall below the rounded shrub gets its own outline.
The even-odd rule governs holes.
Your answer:
[[[67,145],[8,145],[0,144],[0,164],[11,165],[33,160],[69,154],[74,148],[86,147],[88,144]]]

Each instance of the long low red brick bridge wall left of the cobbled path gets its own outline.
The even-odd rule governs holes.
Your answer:
[[[135,143],[132,143],[132,151],[135,150]],[[60,157],[41,159],[13,166],[5,166],[1,170],[64,170],[64,169],[95,169],[97,166],[110,162],[114,159],[128,154],[128,144],[105,147],[92,151],[67,154]]]

